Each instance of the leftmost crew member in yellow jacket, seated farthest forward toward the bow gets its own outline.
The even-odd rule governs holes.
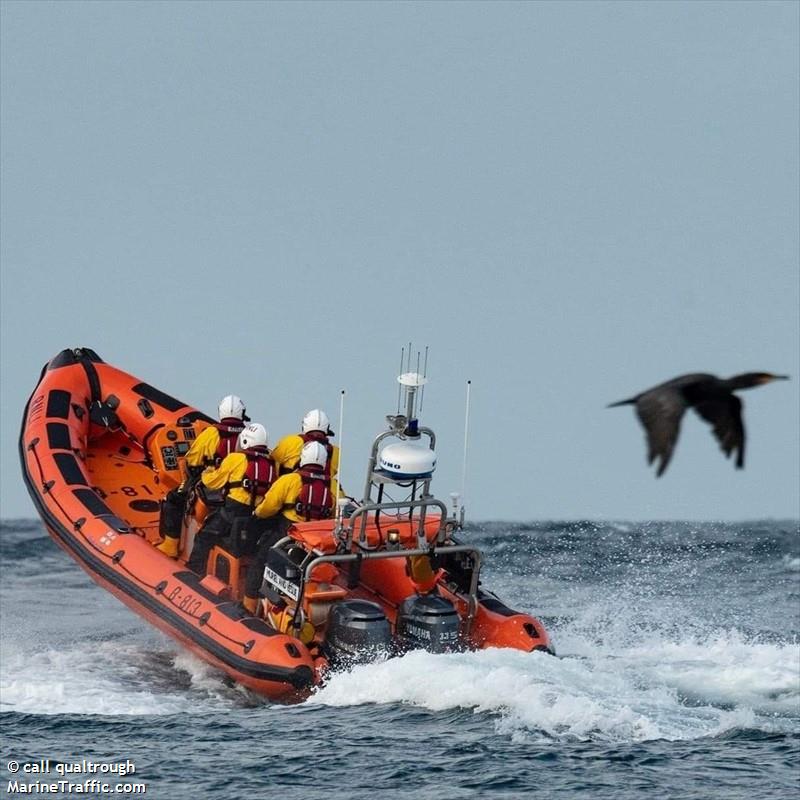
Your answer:
[[[164,541],[158,549],[162,553],[177,557],[189,492],[204,469],[218,467],[226,456],[235,452],[239,434],[249,421],[242,398],[235,394],[226,395],[219,403],[219,423],[204,428],[192,442],[184,462],[186,479],[177,489],[167,493],[161,506],[159,530]]]

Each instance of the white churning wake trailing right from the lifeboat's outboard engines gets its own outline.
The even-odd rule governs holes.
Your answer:
[[[489,712],[496,731],[514,739],[696,739],[780,728],[763,715],[797,713],[798,659],[797,646],[748,645],[735,636],[594,659],[416,652],[334,675],[308,702]]]

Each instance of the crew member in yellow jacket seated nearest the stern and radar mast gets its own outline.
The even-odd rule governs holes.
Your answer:
[[[259,519],[274,519],[258,541],[258,551],[247,570],[242,605],[252,614],[258,605],[258,592],[270,548],[286,535],[293,522],[330,519],[341,495],[338,482],[326,474],[327,448],[321,442],[307,442],[300,453],[296,472],[281,475],[272,484],[254,514]]]

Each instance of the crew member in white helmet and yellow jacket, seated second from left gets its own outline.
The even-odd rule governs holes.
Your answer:
[[[198,575],[206,574],[211,548],[224,539],[237,518],[249,518],[261,503],[278,475],[269,454],[267,431],[257,422],[239,434],[241,452],[231,453],[214,470],[200,478],[208,489],[218,489],[225,495],[225,505],[206,520],[194,540],[192,555],[186,566]]]

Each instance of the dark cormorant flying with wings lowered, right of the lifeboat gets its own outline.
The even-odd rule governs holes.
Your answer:
[[[672,458],[681,418],[687,408],[694,408],[713,427],[726,457],[736,451],[736,468],[741,469],[744,466],[742,401],[733,393],[788,377],[769,372],[745,372],[727,379],[702,372],[680,375],[628,400],[611,403],[608,408],[636,405],[636,413],[647,433],[647,463],[652,464],[657,458],[661,460],[656,472],[658,477],[664,474]]]

